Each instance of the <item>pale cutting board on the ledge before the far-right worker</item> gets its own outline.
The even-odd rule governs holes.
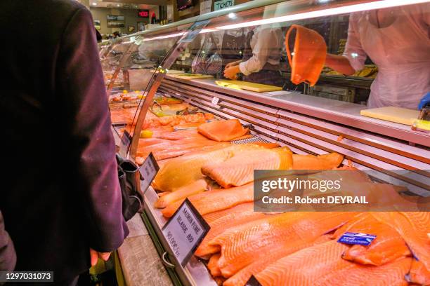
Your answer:
[[[412,125],[412,123],[417,120],[419,111],[401,107],[380,107],[373,109],[363,109],[360,111],[360,114],[386,121]]]

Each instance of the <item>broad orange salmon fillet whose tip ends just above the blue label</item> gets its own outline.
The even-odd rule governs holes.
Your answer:
[[[258,261],[261,254],[295,249],[347,222],[353,212],[286,212],[249,222],[216,236],[209,245],[221,247],[219,267],[228,278]]]

